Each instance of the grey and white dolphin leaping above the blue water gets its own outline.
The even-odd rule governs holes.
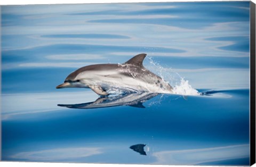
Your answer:
[[[94,64],[69,74],[56,88],[91,88],[98,95],[111,92],[172,93],[172,87],[143,66],[146,54],[138,54],[123,64]]]

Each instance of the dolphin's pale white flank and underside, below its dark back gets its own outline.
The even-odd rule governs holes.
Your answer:
[[[99,86],[103,90],[107,90],[108,93],[115,91],[115,89],[149,93],[172,93],[171,90],[165,88],[167,82],[164,80],[160,80],[156,84],[157,80],[159,80],[158,78],[150,78],[149,76],[136,78],[136,73],[130,73],[131,77],[125,76],[123,72],[130,73],[130,71],[123,70],[86,71],[79,73],[77,78],[85,85]],[[160,84],[162,87],[158,86]],[[83,85],[79,87],[83,87]]]

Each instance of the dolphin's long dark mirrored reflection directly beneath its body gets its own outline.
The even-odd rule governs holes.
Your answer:
[[[61,107],[68,108],[103,108],[103,107],[114,107],[114,106],[132,106],[145,108],[143,103],[149,99],[157,96],[157,93],[133,93],[133,94],[122,94],[116,96],[105,96],[99,97],[94,102],[82,103],[82,104],[58,104]]]

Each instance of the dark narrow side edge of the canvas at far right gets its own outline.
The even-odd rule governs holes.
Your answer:
[[[250,2],[250,165],[255,163],[255,4]]]

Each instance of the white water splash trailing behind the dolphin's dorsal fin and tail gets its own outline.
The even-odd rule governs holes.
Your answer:
[[[147,61],[149,63],[147,68],[150,71],[154,71],[159,77],[173,86],[173,94],[200,95],[198,90],[192,88],[192,86],[188,84],[188,80],[182,78],[180,74],[175,72],[172,68],[164,68],[150,56],[147,57]]]

